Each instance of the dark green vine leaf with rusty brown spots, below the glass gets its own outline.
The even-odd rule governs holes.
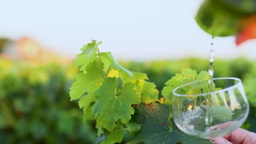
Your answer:
[[[136,105],[131,122],[141,123],[141,131],[127,143],[211,143],[209,140],[196,139],[183,133],[168,119],[169,116],[170,105]]]

